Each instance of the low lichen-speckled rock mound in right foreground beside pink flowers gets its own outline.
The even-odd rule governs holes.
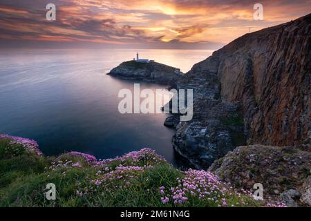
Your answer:
[[[250,190],[261,183],[265,200],[288,206],[311,206],[310,169],[310,152],[263,145],[239,146],[209,167],[234,188]]]

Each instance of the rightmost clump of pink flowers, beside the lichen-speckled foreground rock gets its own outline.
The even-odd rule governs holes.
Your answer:
[[[208,171],[189,169],[185,177],[177,178],[178,185],[166,189],[160,187],[163,204],[171,206],[254,206],[256,203],[247,195],[242,195]],[[249,194],[248,194],[249,195]],[[249,195],[250,196],[250,195]]]

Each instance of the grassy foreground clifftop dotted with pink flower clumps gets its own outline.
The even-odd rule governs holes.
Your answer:
[[[46,184],[56,186],[47,200]],[[262,206],[207,171],[182,172],[143,148],[98,161],[79,152],[45,157],[37,142],[0,135],[0,206]]]

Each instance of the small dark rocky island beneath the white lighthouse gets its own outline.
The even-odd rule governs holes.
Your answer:
[[[178,68],[157,62],[140,63],[136,61],[125,61],[113,68],[108,75],[168,85],[174,85],[182,77]]]

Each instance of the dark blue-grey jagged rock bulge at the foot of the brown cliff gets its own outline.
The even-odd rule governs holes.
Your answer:
[[[236,146],[245,144],[243,117],[238,104],[200,97],[190,122],[180,122],[173,148],[197,169],[207,169]]]

